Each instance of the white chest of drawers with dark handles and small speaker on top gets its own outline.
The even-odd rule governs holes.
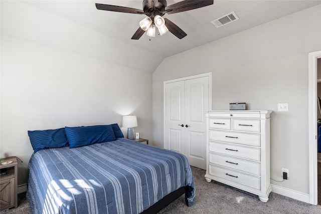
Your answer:
[[[268,201],[272,111],[207,111],[205,179],[256,194]]]

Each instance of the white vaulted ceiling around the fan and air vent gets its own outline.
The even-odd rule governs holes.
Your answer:
[[[139,40],[131,40],[130,38],[139,27],[139,21],[146,16],[97,10],[95,3],[142,9],[141,0],[23,2],[98,32],[109,41],[105,45],[102,43],[102,46],[105,46],[102,48],[109,50],[108,54],[105,54],[107,56],[104,56],[105,60],[112,63],[121,62],[122,65],[147,72],[153,72],[166,57],[321,4],[320,0],[214,0],[211,6],[164,16],[187,33],[187,36],[181,40],[170,32],[163,36],[156,35],[155,38],[149,38],[144,34]],[[180,0],[167,1],[168,5],[177,2]],[[239,18],[238,21],[221,28],[216,28],[211,23],[231,12],[235,12]]]

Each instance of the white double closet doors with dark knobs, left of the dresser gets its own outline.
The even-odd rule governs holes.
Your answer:
[[[164,147],[184,154],[192,166],[206,169],[206,121],[209,77],[165,85]],[[182,126],[183,125],[183,126]]]

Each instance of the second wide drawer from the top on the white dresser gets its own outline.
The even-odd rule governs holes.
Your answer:
[[[246,158],[250,160],[261,160],[261,149],[229,143],[209,142],[209,150],[233,157]]]

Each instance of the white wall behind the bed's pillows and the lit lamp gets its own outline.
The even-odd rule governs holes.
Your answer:
[[[40,28],[39,18],[48,25]],[[61,36],[47,38],[50,34],[43,32]],[[22,2],[1,3],[0,158],[23,160],[18,185],[27,182],[33,153],[28,130],[121,125],[122,115],[131,114],[138,120],[134,131],[152,144],[152,75],[61,47],[69,42],[81,46],[99,37],[103,36]]]

